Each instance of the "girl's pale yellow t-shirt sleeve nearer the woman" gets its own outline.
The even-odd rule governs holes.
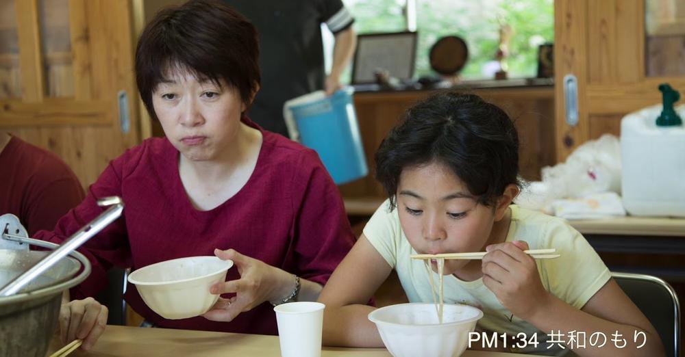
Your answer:
[[[393,269],[397,264],[397,250],[402,238],[397,208],[390,211],[390,200],[376,209],[371,220],[364,226],[364,236]]]

